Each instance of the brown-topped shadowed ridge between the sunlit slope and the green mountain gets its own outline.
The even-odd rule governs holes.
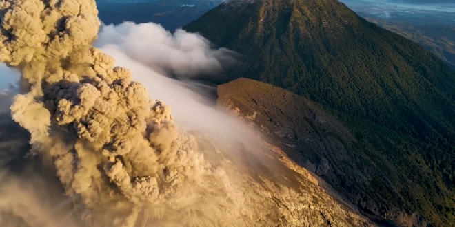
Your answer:
[[[218,95],[218,105],[261,129],[378,224],[393,226],[385,217],[403,226],[427,226],[419,213],[441,226],[453,220],[454,195],[425,164],[422,142],[353,116],[338,113],[338,120],[335,111],[255,80],[219,85]]]

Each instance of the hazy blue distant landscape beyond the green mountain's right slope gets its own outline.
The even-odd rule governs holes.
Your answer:
[[[361,17],[416,41],[455,69],[455,1],[342,1]]]

